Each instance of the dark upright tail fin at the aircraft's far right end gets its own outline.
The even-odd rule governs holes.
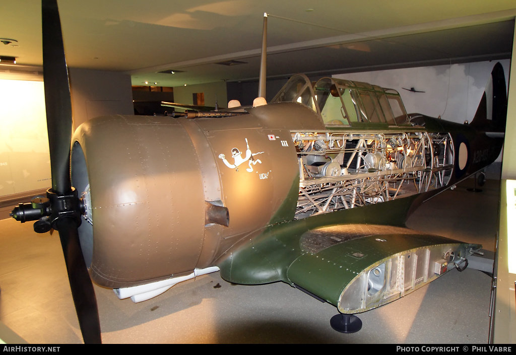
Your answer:
[[[471,126],[485,132],[505,132],[507,88],[502,64],[495,64]]]

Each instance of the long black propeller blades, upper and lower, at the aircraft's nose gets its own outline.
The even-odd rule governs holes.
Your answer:
[[[53,214],[57,217],[52,227],[59,232],[61,247],[72,290],[72,297],[79,320],[80,331],[86,344],[101,343],[99,311],[93,284],[80,247],[78,225],[79,204],[63,203],[61,198],[78,199],[73,192],[70,178],[70,143],[72,137],[72,105],[70,84],[61,34],[61,22],[56,0],[42,0],[43,33],[43,79],[47,129],[49,133],[50,160],[52,170],[51,198]],[[64,196],[68,195],[68,196]],[[79,215],[79,218],[77,218]]]

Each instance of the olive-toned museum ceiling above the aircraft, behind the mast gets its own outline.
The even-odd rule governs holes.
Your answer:
[[[134,85],[254,80],[263,13],[269,77],[509,58],[513,0],[59,0],[70,67],[121,71]],[[41,66],[39,0],[3,4],[0,55]],[[214,64],[236,59],[238,66]],[[0,63],[1,65],[1,63]],[[181,70],[170,75],[156,72]],[[154,84],[149,84],[154,85]]]

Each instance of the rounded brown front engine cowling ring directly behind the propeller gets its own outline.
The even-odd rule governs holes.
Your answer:
[[[185,128],[170,118],[104,117],[72,141],[72,183],[90,191],[93,225],[83,222],[79,234],[93,280],[120,287],[193,270],[205,202]]]

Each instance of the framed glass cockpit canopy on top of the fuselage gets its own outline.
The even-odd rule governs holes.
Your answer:
[[[271,102],[293,101],[312,108],[327,126],[384,123],[409,125],[399,93],[377,85],[325,77],[315,85],[296,74]]]

